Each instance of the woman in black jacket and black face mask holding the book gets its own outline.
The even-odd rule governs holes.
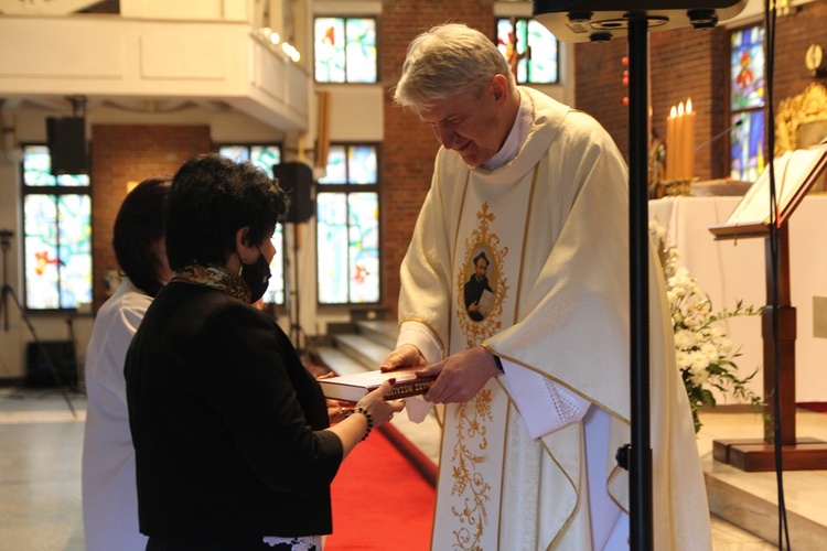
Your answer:
[[[175,271],[127,355],[140,530],[149,550],[321,549],[340,463],[401,402],[385,383],[330,426],[327,403],[265,292],[286,194],[216,154],[175,174]]]

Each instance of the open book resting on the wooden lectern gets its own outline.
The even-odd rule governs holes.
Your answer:
[[[792,216],[813,184],[827,168],[827,143],[787,151],[773,160],[777,224]],[[770,235],[770,166],[767,165],[744,194],[726,224],[710,226],[716,239],[766,237]]]

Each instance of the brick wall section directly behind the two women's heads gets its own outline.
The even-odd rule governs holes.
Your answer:
[[[105,276],[117,270],[112,226],[128,182],[172,174],[191,155],[211,149],[207,126],[92,127],[92,235],[95,312],[107,299]]]

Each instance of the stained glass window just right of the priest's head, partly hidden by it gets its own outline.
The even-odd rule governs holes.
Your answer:
[[[557,39],[533,19],[498,19],[497,47],[512,65],[519,84],[559,82]]]

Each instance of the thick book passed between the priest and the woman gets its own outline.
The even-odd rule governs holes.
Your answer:
[[[379,388],[388,379],[396,378],[396,383],[385,400],[398,400],[409,396],[423,395],[431,388],[436,377],[417,377],[416,371],[421,368],[410,367],[394,371],[363,371],[359,374],[342,375],[326,379],[318,379],[325,398],[357,402],[362,397]]]

